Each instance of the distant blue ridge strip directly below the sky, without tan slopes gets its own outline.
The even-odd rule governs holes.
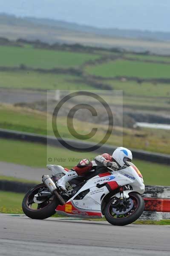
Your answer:
[[[4,24],[15,24],[15,25],[40,25],[40,26],[50,26],[57,29],[71,30],[76,32],[92,33],[96,35],[105,35],[111,37],[120,38],[133,38],[133,39],[143,39],[143,40],[153,40],[153,41],[170,41],[170,33],[168,32],[152,32],[149,30],[132,30],[132,29],[107,29],[107,28],[97,28],[94,26],[79,25],[77,23],[69,23],[62,20],[52,20],[47,18],[35,18],[35,17],[15,17],[14,15],[0,14],[0,23]]]

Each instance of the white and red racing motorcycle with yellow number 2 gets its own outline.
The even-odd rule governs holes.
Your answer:
[[[74,218],[106,218],[112,225],[123,226],[137,220],[144,210],[144,181],[131,162],[118,171],[93,177],[78,177],[61,191],[58,180],[68,172],[62,166],[47,165],[52,175],[43,175],[43,183],[30,189],[23,198],[23,212],[29,218],[45,219],[57,212]]]

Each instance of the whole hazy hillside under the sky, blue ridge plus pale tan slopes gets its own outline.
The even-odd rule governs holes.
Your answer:
[[[16,40],[40,40],[53,44],[79,43],[89,46],[119,47],[133,51],[170,54],[170,33],[123,29],[100,29],[58,20],[15,17],[0,14],[0,36]]]

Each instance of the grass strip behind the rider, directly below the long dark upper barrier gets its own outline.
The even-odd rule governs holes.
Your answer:
[[[46,145],[38,143],[27,143],[15,140],[0,139],[0,161],[17,163],[26,166],[45,167],[46,166]],[[17,150],[16,150],[17,148]],[[64,163],[57,161],[47,162],[48,164],[60,164],[66,167],[75,166],[76,162],[69,161],[69,157],[76,156],[77,158],[95,157],[97,153],[74,153],[63,148],[48,147],[48,156],[66,158]],[[142,160],[133,160],[133,163],[138,166],[144,177],[144,183],[149,185],[170,185],[169,166],[150,163]],[[4,173],[5,175],[5,173]]]

